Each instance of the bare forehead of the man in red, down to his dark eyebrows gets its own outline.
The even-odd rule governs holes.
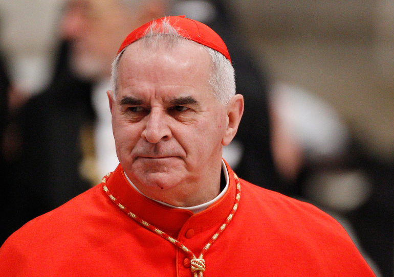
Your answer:
[[[153,51],[153,52],[152,52]],[[198,52],[201,51],[201,54]],[[130,44],[119,64],[119,96],[172,99],[211,91],[211,61],[202,45],[182,38],[175,48],[149,49],[143,39]]]

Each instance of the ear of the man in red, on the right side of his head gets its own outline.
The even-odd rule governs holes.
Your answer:
[[[239,122],[241,121],[242,114],[244,113],[244,97],[240,94],[234,95],[227,105],[228,124],[225,135],[222,139],[224,146],[230,144],[234,138]]]

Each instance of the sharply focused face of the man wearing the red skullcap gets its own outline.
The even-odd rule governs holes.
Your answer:
[[[186,39],[156,50],[143,40],[120,60],[117,95],[108,91],[120,164],[151,198],[179,206],[209,201],[219,190],[228,124],[208,84],[209,54]]]

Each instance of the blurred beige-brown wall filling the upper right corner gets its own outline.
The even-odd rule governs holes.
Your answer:
[[[329,101],[371,152],[393,159],[392,0],[231,0],[231,5],[240,30],[276,78]]]

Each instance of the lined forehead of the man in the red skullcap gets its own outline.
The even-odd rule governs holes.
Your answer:
[[[119,89],[130,86],[184,86],[210,90],[210,57],[201,45],[180,40],[169,47],[165,42],[130,44],[120,59]],[[199,88],[199,89],[197,89]]]

